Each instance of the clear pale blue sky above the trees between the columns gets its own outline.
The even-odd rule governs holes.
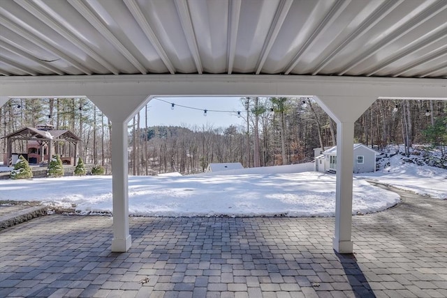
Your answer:
[[[175,104],[174,109],[171,109],[170,103]],[[237,117],[237,111],[241,111],[242,116],[246,115],[240,97],[156,97],[147,105],[148,126],[237,126],[244,125],[244,119]],[[180,105],[185,107],[180,107]],[[205,109],[207,109],[207,116],[203,116]],[[145,126],[144,115],[145,108],[142,109],[140,118],[142,127]]]

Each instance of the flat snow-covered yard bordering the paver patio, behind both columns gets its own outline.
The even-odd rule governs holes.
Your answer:
[[[397,194],[361,179],[353,184],[353,214],[385,210]],[[112,212],[110,176],[4,180],[0,200],[42,201],[82,213]],[[214,176],[131,176],[134,216],[287,216],[335,214],[335,175],[315,172]]]

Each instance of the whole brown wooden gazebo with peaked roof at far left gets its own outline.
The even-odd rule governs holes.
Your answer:
[[[6,139],[6,156],[3,161],[7,162],[8,166],[13,164],[13,155],[17,157],[24,155],[30,164],[45,164],[52,156],[52,148],[55,142],[68,143],[68,150],[57,152],[64,164],[75,166],[76,156],[78,152],[78,143],[81,141],[70,130],[53,130],[53,125],[37,125],[36,127],[23,127],[1,139]],[[13,142],[27,141],[27,152],[13,153]]]

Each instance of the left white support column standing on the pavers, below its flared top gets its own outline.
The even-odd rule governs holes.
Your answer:
[[[126,252],[131,247],[129,234],[129,182],[127,157],[127,122],[112,122],[112,251]]]

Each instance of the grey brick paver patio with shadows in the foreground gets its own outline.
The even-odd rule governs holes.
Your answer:
[[[142,218],[111,253],[112,219],[51,215],[0,232],[0,297],[447,297],[447,201],[408,195],[353,218]]]

